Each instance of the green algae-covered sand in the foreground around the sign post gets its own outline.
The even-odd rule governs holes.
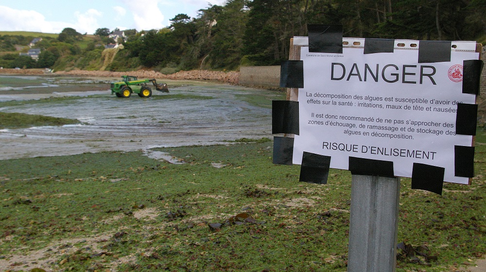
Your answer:
[[[401,180],[398,272],[460,271],[486,253],[486,143],[472,185]],[[351,175],[298,182],[268,139],[4,160],[0,271],[347,271]]]

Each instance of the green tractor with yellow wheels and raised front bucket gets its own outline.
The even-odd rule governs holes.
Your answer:
[[[157,84],[155,79],[140,79],[132,75],[122,75],[121,81],[111,83],[111,94],[116,94],[118,97],[130,97],[132,93],[137,93],[140,97],[152,96],[152,89],[147,85],[151,82],[157,91],[169,92],[167,84]]]

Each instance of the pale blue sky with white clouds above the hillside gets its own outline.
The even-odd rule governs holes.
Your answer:
[[[161,29],[177,14],[197,17],[226,0],[0,0],[0,31],[61,33],[73,28],[94,34],[99,28]]]

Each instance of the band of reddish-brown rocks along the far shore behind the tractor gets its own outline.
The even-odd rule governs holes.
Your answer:
[[[179,71],[172,74],[163,74],[152,70],[138,70],[131,72],[112,72],[112,71],[57,71],[54,73],[46,72],[45,69],[1,69],[0,74],[25,74],[25,75],[74,75],[74,76],[92,76],[92,77],[121,77],[121,75],[130,74],[140,78],[156,79],[174,79],[174,80],[211,80],[222,83],[238,84],[240,81],[240,72],[230,71],[208,71],[192,70]]]

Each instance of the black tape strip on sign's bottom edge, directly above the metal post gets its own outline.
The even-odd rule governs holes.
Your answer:
[[[394,178],[393,162],[349,157],[349,171],[353,175]]]

